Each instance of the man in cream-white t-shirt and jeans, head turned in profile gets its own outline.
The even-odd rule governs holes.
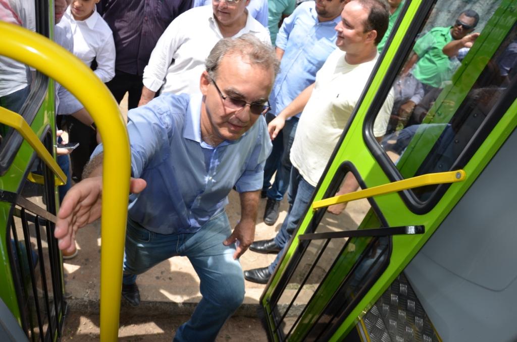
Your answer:
[[[291,148],[290,210],[275,239],[256,241],[250,246],[250,250],[258,253],[280,253],[268,267],[245,271],[248,281],[268,282],[303,218],[312,193],[375,66],[378,57],[376,46],[388,28],[388,9],[385,0],[353,0],[346,4],[341,12],[341,22],[336,26],[338,49],[316,73],[316,82],[269,123],[269,133],[274,139],[283,128],[285,119],[303,110]],[[373,134],[376,137],[385,134],[392,106],[391,91],[374,123]],[[340,191],[349,192],[350,187],[345,181]]]

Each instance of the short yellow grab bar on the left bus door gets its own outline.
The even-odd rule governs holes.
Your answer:
[[[47,151],[43,143],[41,143],[38,139],[38,136],[31,127],[28,125],[27,121],[18,113],[14,113],[9,111],[4,107],[0,107],[0,122],[4,125],[14,128],[17,130],[23,138],[27,141],[29,145],[36,151],[38,157],[41,158],[50,167],[53,173],[57,175],[57,177],[63,182],[66,183],[66,176],[63,170],[57,165],[54,157]]]

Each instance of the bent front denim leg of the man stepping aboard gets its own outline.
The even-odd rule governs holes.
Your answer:
[[[203,225],[180,246],[200,278],[203,296],[190,319],[178,328],[174,341],[213,341],[224,322],[244,300],[244,276],[235,245],[223,241],[231,234],[226,213]]]

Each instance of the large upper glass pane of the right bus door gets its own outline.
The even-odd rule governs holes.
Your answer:
[[[500,4],[474,1],[465,8],[460,1],[435,3],[391,85],[396,99],[380,146],[387,157],[381,164],[392,175],[393,165],[396,167],[398,176],[394,178],[463,167],[468,161],[467,149],[475,151],[474,146],[482,143],[513,101],[515,25],[512,27],[514,19],[508,14],[508,6]],[[474,28],[463,25],[475,22],[468,17],[475,12],[463,12],[467,9],[479,13]],[[511,24],[506,19],[498,21],[505,11]],[[482,35],[474,39],[477,33]],[[445,40],[439,38],[440,34],[445,34]],[[454,45],[462,42],[454,37],[462,36],[470,43]],[[370,141],[371,148],[378,146],[373,139]],[[431,198],[437,199],[433,194],[439,186],[417,188],[403,197],[410,193],[406,203],[424,205]]]

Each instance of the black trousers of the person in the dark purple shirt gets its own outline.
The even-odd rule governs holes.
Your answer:
[[[142,75],[128,74],[127,72],[115,70],[115,77],[106,83],[111,94],[118,103],[122,101],[126,92],[128,96],[128,110],[138,107],[138,102],[142,96]]]

